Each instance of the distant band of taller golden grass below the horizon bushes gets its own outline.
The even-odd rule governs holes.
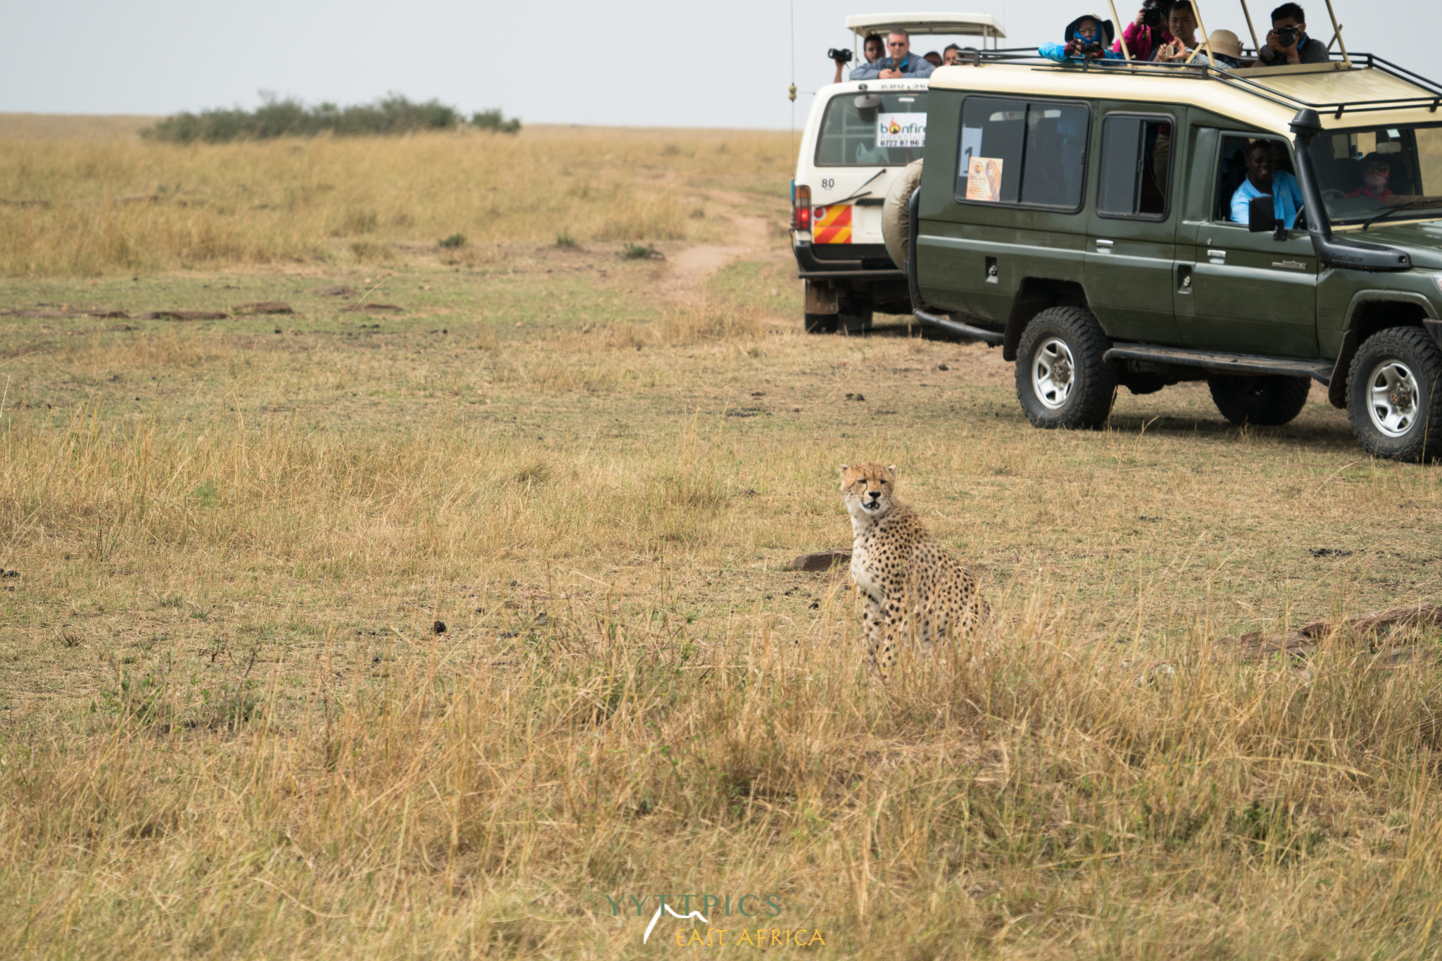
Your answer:
[[[515,243],[708,239],[708,187],[782,196],[786,133],[526,128],[224,146],[0,122],[0,277],[496,262]],[[63,128],[61,128],[63,130]],[[460,248],[437,242],[463,235]],[[497,249],[500,245],[500,249]]]

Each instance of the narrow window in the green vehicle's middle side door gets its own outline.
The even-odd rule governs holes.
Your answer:
[[[1167,219],[1172,130],[1171,117],[1112,114],[1102,122],[1100,216]]]

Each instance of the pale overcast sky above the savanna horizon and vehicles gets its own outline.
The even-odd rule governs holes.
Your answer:
[[[1276,0],[1253,7],[1259,30]],[[795,0],[795,79],[831,82],[826,48],[849,46],[849,13],[965,10],[1002,20],[1007,46],[1060,39],[1089,7],[1061,0]],[[1103,0],[1105,3],[1105,0]],[[1201,0],[1207,27],[1246,37],[1239,0]],[[1436,0],[1334,0],[1351,50],[1423,75],[1442,27]],[[1304,0],[1311,33],[1327,7]],[[1136,0],[1118,7],[1123,19]],[[1370,16],[1368,16],[1370,14]],[[169,114],[254,107],[258,91],[355,104],[395,91],[464,111],[500,107],[532,124],[779,127],[792,124],[787,3],[552,0],[407,4],[350,0],[10,0],[0,33],[0,111]],[[921,52],[939,49],[919,39]],[[809,98],[797,99],[796,121]]]

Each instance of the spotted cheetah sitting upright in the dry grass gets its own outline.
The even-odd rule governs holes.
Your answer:
[[[900,644],[959,640],[989,617],[976,579],[910,507],[895,501],[895,483],[894,465],[841,465],[841,493],[855,539],[851,579],[867,601],[862,633],[883,680]]]

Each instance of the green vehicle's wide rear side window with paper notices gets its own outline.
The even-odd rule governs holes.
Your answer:
[[[1090,115],[1082,104],[968,97],[957,199],[1080,209]]]

